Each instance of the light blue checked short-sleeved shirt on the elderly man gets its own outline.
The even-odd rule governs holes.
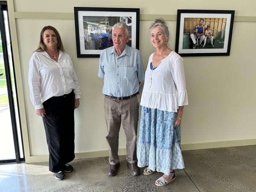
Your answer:
[[[102,50],[98,76],[104,78],[102,92],[105,95],[126,97],[135,94],[139,82],[145,78],[141,53],[127,45],[120,56],[114,46]]]

